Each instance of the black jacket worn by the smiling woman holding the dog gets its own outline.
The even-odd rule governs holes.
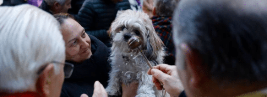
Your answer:
[[[62,87],[61,97],[80,97],[81,94],[92,96],[94,82],[100,81],[104,87],[107,86],[109,71],[111,69],[107,61],[110,48],[104,43],[89,35],[91,39],[92,56],[82,63],[66,61],[74,64],[74,70],[70,78],[65,79]]]

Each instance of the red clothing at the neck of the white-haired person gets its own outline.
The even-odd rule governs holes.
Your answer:
[[[15,94],[0,93],[0,97],[42,97],[42,96],[35,92],[23,92]]]

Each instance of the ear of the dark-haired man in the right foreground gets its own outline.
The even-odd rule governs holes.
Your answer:
[[[205,79],[204,68],[202,66],[202,59],[199,53],[191,49],[187,44],[181,44],[181,49],[185,54],[185,69],[190,73],[190,86],[199,87]]]

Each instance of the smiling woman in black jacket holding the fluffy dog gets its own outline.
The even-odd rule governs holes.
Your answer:
[[[84,28],[70,14],[59,13],[54,17],[61,25],[66,46],[66,62],[74,64],[72,75],[63,83],[61,97],[80,97],[84,93],[91,97],[95,81],[107,86],[111,69],[107,61],[110,48],[85,33]],[[137,86],[138,83],[132,83],[126,88],[123,84],[123,95],[135,96],[132,91],[136,90]]]

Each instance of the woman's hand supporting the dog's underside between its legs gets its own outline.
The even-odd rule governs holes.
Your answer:
[[[122,84],[123,94],[122,97],[135,97],[138,88],[138,82],[132,82],[129,86]]]

